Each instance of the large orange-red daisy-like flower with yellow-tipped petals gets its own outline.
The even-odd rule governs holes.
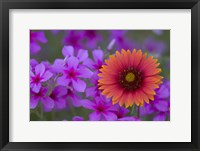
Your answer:
[[[147,57],[141,50],[122,49],[105,60],[98,76],[102,94],[112,98],[112,103],[125,107],[154,100],[155,89],[162,83],[160,63],[153,56]]]

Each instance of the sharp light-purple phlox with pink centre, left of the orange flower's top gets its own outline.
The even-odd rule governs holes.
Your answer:
[[[84,92],[86,83],[80,78],[90,78],[93,72],[87,67],[80,65],[79,60],[76,57],[71,56],[67,59],[62,74],[63,75],[57,79],[59,85],[68,86],[72,83],[74,90]]]

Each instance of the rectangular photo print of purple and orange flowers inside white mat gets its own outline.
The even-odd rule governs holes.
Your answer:
[[[30,121],[170,121],[170,30],[30,30]]]

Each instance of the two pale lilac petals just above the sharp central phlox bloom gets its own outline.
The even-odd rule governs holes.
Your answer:
[[[80,61],[83,62],[85,59],[88,58],[88,51],[85,49],[79,49],[77,54],[74,51],[73,46],[64,46],[62,49],[62,54],[65,57],[65,60],[67,60],[71,56],[76,56],[76,58]]]

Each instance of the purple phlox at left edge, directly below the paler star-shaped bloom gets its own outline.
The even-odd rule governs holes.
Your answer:
[[[48,89],[45,87],[41,87],[38,93],[35,93],[32,90],[30,90],[30,93],[31,93],[30,108],[31,109],[36,108],[39,101],[42,102],[44,107],[47,107],[47,108],[54,107],[54,101],[49,96],[47,96],[47,91]]]

